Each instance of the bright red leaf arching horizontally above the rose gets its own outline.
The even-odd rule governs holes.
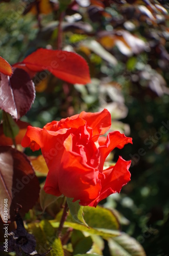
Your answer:
[[[90,82],[87,62],[73,52],[41,48],[13,66],[25,69],[30,75],[32,72],[48,70],[56,77],[70,83]]]

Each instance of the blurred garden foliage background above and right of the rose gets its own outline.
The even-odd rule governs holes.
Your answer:
[[[162,0],[59,2],[0,1],[0,55],[11,65],[37,48],[57,49],[62,11],[62,50],[79,53],[90,68],[86,86],[37,74],[35,102],[21,120],[42,127],[107,108],[111,131],[133,138],[133,145],[113,151],[110,160],[132,159],[132,176],[119,195],[102,204],[123,214],[122,229],[147,255],[169,255],[169,5]]]

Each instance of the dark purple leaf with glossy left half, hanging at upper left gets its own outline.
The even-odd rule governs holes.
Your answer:
[[[35,87],[28,73],[14,69],[11,77],[1,75],[0,108],[16,119],[25,115],[35,99]]]

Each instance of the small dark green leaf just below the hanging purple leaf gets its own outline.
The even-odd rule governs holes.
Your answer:
[[[3,111],[3,130],[6,137],[14,139],[19,133],[19,127],[12,116]]]

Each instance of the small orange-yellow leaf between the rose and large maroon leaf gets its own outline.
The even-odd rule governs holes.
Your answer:
[[[42,155],[38,157],[30,157],[29,160],[31,161],[34,170],[40,173],[42,176],[46,176],[49,169],[47,168],[46,162]]]

